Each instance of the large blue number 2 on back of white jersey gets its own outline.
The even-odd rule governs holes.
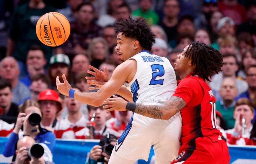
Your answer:
[[[160,64],[153,64],[151,65],[152,68],[152,79],[150,80],[149,85],[163,85],[163,79],[156,80],[157,76],[161,77],[165,74],[165,69]],[[157,71],[158,70],[158,71]]]

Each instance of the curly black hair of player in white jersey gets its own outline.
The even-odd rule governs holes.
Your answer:
[[[122,32],[125,37],[138,40],[141,47],[148,51],[151,51],[155,42],[155,35],[151,32],[145,19],[133,20],[131,17],[122,19],[116,23],[115,33],[119,32]]]

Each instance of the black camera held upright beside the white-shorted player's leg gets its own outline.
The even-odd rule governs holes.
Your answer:
[[[112,150],[114,149],[114,145],[110,144],[111,141],[116,142],[117,137],[114,136],[113,134],[109,134],[107,132],[107,135],[104,136],[100,141],[99,141],[99,146],[101,146],[102,152],[106,153],[107,155],[111,155]],[[104,156],[101,155],[101,158],[97,160],[97,162],[105,162]]]

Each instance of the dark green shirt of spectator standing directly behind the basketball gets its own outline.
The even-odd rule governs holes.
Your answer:
[[[15,41],[13,57],[16,60],[26,62],[27,51],[32,45],[39,45],[45,51],[47,61],[52,55],[52,47],[39,41],[35,31],[37,20],[47,12],[55,11],[49,5],[43,9],[32,9],[29,3],[16,7],[10,22],[10,39]]]

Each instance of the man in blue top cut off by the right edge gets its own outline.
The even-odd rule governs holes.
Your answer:
[[[256,65],[251,65],[246,72],[246,82],[248,83],[248,90],[239,94],[236,98],[248,98],[253,103],[254,108],[256,108]],[[255,117],[254,119],[255,120]]]

